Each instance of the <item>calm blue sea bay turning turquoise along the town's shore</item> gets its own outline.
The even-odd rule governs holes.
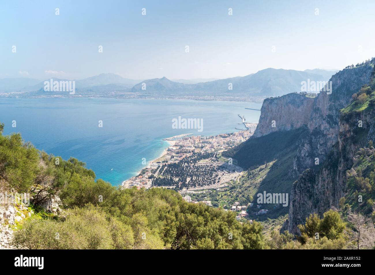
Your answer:
[[[132,177],[160,156],[179,134],[217,135],[258,122],[261,104],[232,101],[152,100],[115,98],[0,98],[4,133],[20,132],[37,149],[86,162],[98,178],[113,185]],[[203,119],[203,131],[172,129],[172,119]],[[12,128],[12,120],[17,127]],[[98,121],[103,121],[99,128]],[[111,170],[112,169],[112,170]]]

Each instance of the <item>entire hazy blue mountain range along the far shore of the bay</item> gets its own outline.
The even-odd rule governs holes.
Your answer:
[[[240,96],[240,97],[270,97],[300,91],[301,82],[307,79],[327,81],[336,71],[313,69],[305,71],[267,68],[247,76],[227,79],[177,79],[166,77],[134,80],[126,79],[117,74],[103,73],[97,76],[75,80],[78,94],[92,93],[108,95],[108,92],[141,94],[141,95],[171,95],[171,96]],[[67,81],[68,79],[58,79]],[[49,81],[49,79],[46,79]],[[27,95],[40,94],[44,81],[31,78],[0,79],[0,92],[28,92]],[[145,83],[145,84],[143,84]],[[143,87],[143,89],[142,89]],[[36,93],[34,91],[37,91]],[[56,94],[56,92],[55,92]],[[58,94],[58,93],[57,93]]]

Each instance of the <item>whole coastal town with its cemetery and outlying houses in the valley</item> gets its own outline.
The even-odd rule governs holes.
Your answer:
[[[239,143],[246,141],[254,134],[257,123],[243,121],[246,129],[229,134],[216,136],[196,136],[182,134],[164,140],[169,147],[162,155],[148,163],[148,166],[135,177],[123,181],[123,188],[170,188],[181,193],[183,199],[191,203],[203,203],[212,206],[211,201],[192,201],[188,193],[205,192],[203,189],[217,189],[237,182],[243,169],[233,163],[232,159],[224,158],[221,153]],[[252,204],[239,205],[226,211],[238,211],[237,219],[248,217],[246,212]],[[259,210],[265,214],[267,210]]]

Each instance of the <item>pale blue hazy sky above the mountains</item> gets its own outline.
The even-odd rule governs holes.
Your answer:
[[[374,0],[2,0],[0,78],[342,69],[375,56],[374,10]]]

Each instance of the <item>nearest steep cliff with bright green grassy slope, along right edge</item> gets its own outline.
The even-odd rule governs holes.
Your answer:
[[[296,225],[305,219],[307,214],[313,212],[322,214],[330,207],[339,207],[340,200],[348,196],[348,193],[352,193],[347,187],[351,179],[350,176],[348,177],[348,170],[356,171],[356,165],[360,159],[358,155],[360,148],[365,148],[368,144],[372,144],[372,140],[375,140],[374,63],[363,67],[366,66],[371,69],[371,79],[364,83],[356,93],[353,93],[350,104],[340,110],[336,140],[331,141],[333,145],[323,166],[318,171],[307,169],[293,185],[288,225],[291,232],[297,232]],[[360,151],[363,150],[366,151],[366,149]],[[370,150],[370,155],[371,152]],[[371,156],[367,156],[366,153],[362,155],[371,167],[373,162]],[[369,184],[366,190],[374,196],[373,182]],[[364,186],[362,186],[363,189],[365,189]],[[371,208],[373,206],[371,205]],[[365,212],[365,214],[368,213]]]

